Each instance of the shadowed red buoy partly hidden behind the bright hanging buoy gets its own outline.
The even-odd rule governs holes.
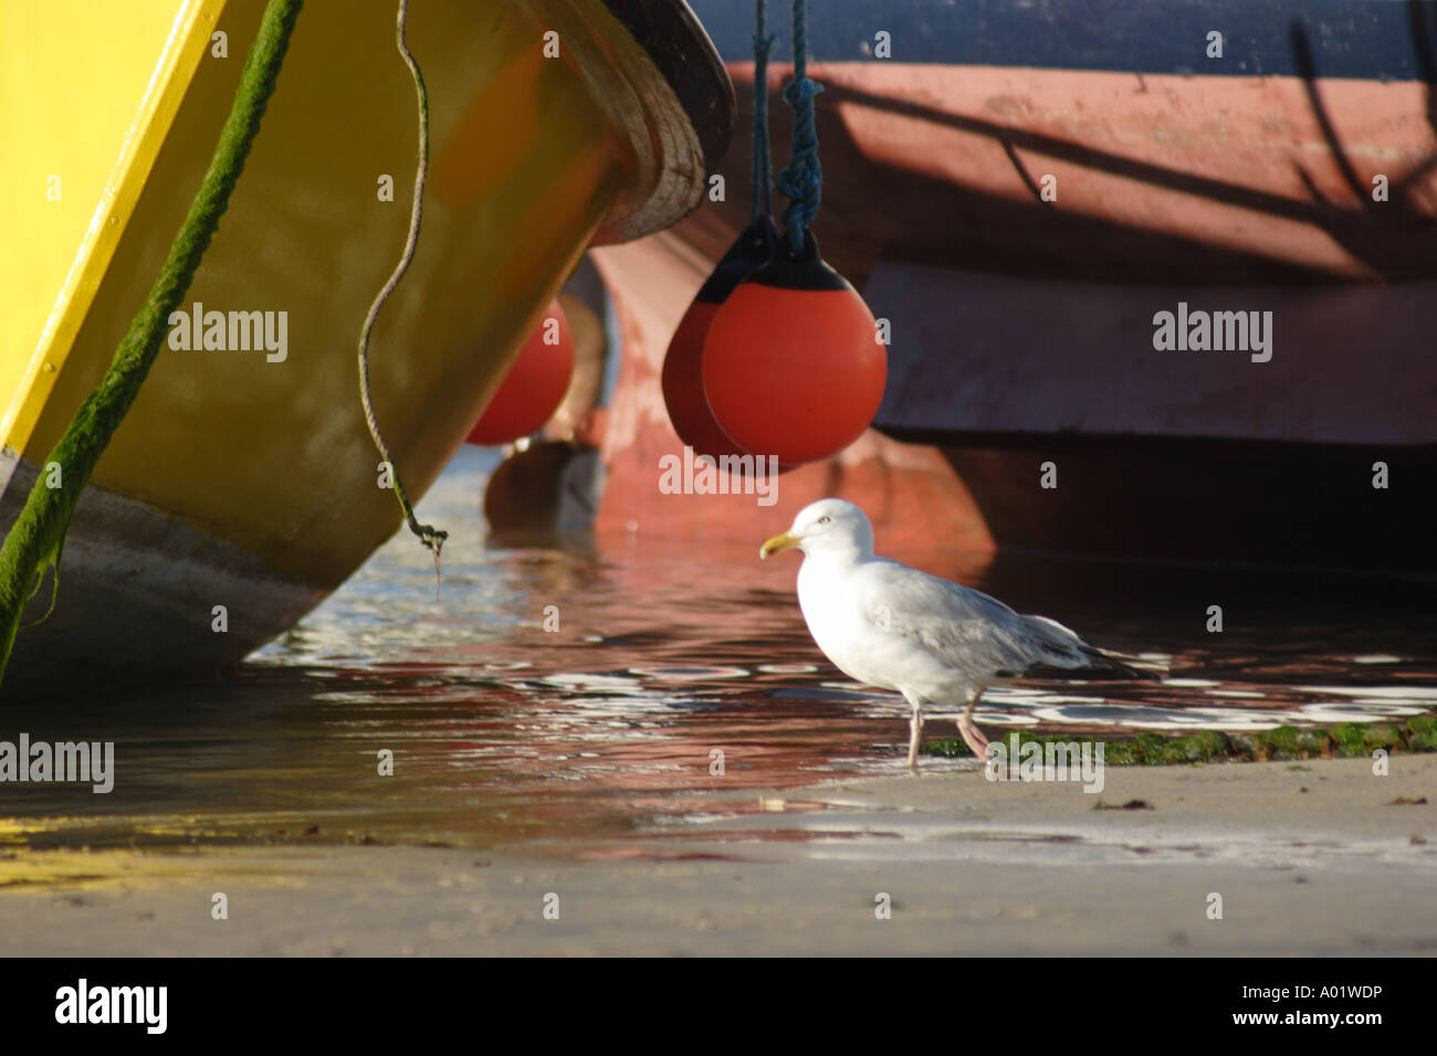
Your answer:
[[[708,409],[703,376],[704,339],[714,316],[718,315],[718,307],[754,269],[773,259],[777,244],[779,231],[772,217],[760,214],[729,247],[713,274],[698,289],[698,295],[684,312],[678,329],[668,342],[660,378],[664,407],[668,408],[674,432],[684,444],[694,448],[694,454],[716,458],[724,454],[743,454]]]

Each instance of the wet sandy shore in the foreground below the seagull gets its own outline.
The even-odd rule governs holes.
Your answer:
[[[1437,756],[1385,777],[1362,759],[1114,767],[1089,795],[947,769],[759,799],[522,852],[9,852],[0,953],[1437,953]]]

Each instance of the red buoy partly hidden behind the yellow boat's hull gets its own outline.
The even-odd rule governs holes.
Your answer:
[[[537,432],[563,402],[572,374],[573,336],[555,299],[466,441],[510,444]]]

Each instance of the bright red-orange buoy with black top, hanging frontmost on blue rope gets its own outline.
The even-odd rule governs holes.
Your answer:
[[[874,313],[819,256],[780,253],[740,284],[708,326],[704,394],[734,444],[779,463],[829,458],[878,412],[888,355]]]

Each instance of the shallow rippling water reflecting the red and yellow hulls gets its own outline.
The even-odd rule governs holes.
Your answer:
[[[901,701],[812,645],[798,556],[644,536],[486,543],[494,455],[463,451],[421,504],[450,530],[443,586],[407,533],[237,678],[66,708],[10,708],[7,734],[114,740],[116,784],[11,784],[0,843],[216,846],[374,842],[546,852],[759,812],[757,796],[902,773]],[[879,549],[882,540],[879,539]],[[895,553],[1091,641],[1167,658],[1164,685],[992,690],[979,720],[1101,737],[1269,728],[1437,707],[1433,585],[1328,573]],[[1221,605],[1223,634],[1207,606]],[[546,631],[546,606],[558,629]],[[951,737],[940,714],[927,734]],[[394,776],[378,751],[394,751]],[[710,773],[723,753],[723,774]],[[930,772],[976,763],[924,759]],[[832,836],[832,833],[828,833]],[[616,845],[615,845],[616,846]]]

